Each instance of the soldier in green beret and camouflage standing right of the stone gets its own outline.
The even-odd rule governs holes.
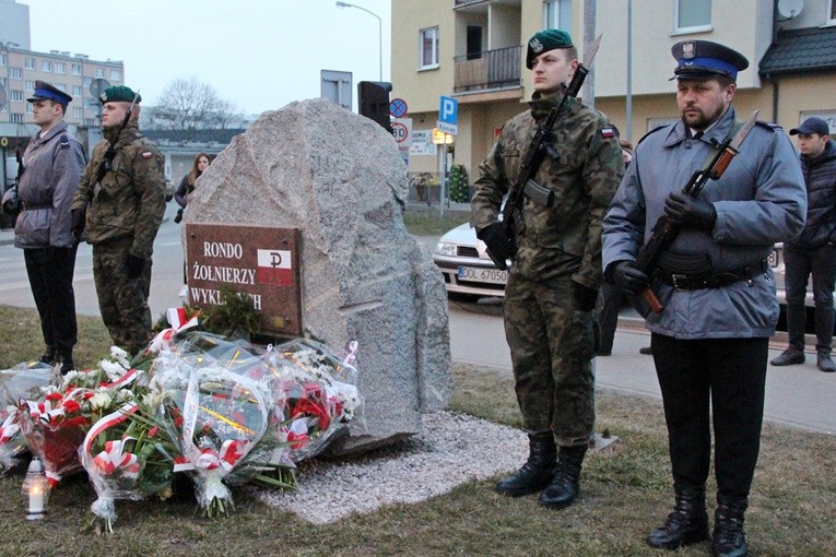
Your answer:
[[[496,490],[511,497],[540,491],[541,505],[560,509],[578,495],[594,426],[601,220],[624,162],[607,116],[567,97],[549,139],[550,156],[534,175],[554,201],[544,206],[523,198],[515,251],[497,220],[499,205],[518,180],[535,128],[566,97],[578,67],[569,34],[534,34],[526,66],[534,85],[530,109],[505,123],[480,166],[471,224],[492,254],[513,258],[503,311],[530,452]]]

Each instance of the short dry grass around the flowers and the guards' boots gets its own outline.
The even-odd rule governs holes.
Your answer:
[[[34,310],[0,306],[0,366],[39,354]],[[81,317],[79,325],[76,363],[91,366],[107,354],[107,334],[97,318]],[[455,365],[454,379],[452,410],[519,426],[509,377]],[[672,498],[661,404],[601,392],[597,429],[604,428],[620,441],[588,455],[581,496],[562,511],[540,508],[534,496],[501,497],[492,490],[493,481],[486,481],[461,485],[422,503],[311,525],[260,503],[251,489],[243,488],[234,490],[235,512],[214,521],[195,513],[188,491],[165,502],[117,501],[116,534],[98,537],[80,533],[95,498],[83,474],[59,486],[45,520],[27,522],[20,493],[23,472],[14,470],[0,478],[0,555],[668,555],[644,544],[648,531],[664,520]],[[765,426],[746,514],[752,555],[833,555],[834,470],[832,436]],[[709,493],[714,490],[711,483]],[[714,507],[710,500],[709,507]],[[675,555],[708,553],[703,543]]]

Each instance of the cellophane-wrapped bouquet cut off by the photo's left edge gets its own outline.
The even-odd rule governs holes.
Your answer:
[[[40,362],[19,364],[0,371],[0,475],[21,463],[26,438],[21,434],[17,401],[37,398],[49,384],[52,367]]]

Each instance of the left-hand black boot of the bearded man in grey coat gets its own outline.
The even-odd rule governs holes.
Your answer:
[[[708,540],[708,513],[705,510],[705,486],[673,486],[676,502],[664,525],[647,536],[647,545],[675,549]]]

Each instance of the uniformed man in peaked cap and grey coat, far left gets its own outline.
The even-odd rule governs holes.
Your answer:
[[[78,342],[75,294],[72,275],[76,241],[70,233],[70,203],[79,187],[85,158],[81,144],[63,121],[72,97],[44,81],[35,82],[32,103],[40,131],[26,145],[23,174],[16,187],[21,213],[14,226],[14,245],[23,249],[32,295],[40,317],[48,364],[61,372],[73,369]],[[3,198],[7,206],[8,198]]]

